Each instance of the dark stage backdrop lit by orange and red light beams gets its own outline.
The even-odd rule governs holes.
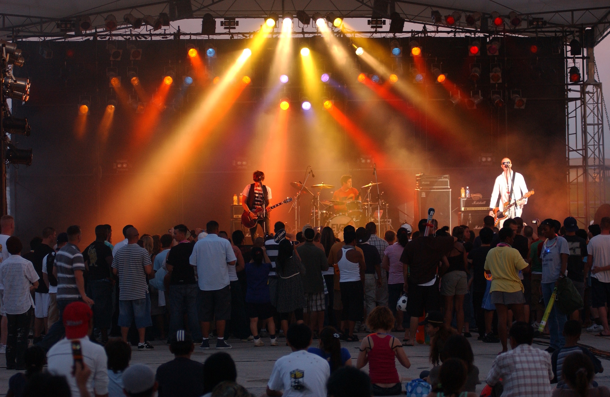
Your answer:
[[[460,188],[469,186],[472,193],[489,197],[503,156],[509,156],[514,169],[525,175],[528,188],[536,189],[523,214],[526,222],[534,217],[562,220],[567,216],[564,60],[563,54],[552,53],[551,38],[501,38],[498,57],[486,55],[484,40],[483,54],[468,57],[469,38],[418,38],[426,54],[420,68],[430,79],[430,66],[441,65],[448,76],[444,86],[414,83],[412,57],[392,58],[389,39],[369,40],[373,57],[406,81],[403,93],[411,97],[397,106],[403,113],[392,106],[400,97],[399,91],[391,88],[394,94],[390,102],[384,102],[357,82],[360,72],[372,74],[373,69],[353,55],[346,38],[340,43],[353,55],[350,62],[355,66],[350,62],[336,65],[318,38],[305,38],[300,44],[312,48],[318,74],[331,73],[331,82],[320,97],[334,99],[336,108],[351,120],[350,126],[343,128],[329,116],[317,103],[320,97],[312,99],[315,117],[300,110],[305,88],[296,44],[289,84],[280,88],[282,93],[268,94],[276,89],[268,81],[277,44],[271,39],[260,57],[246,65],[252,83],[211,128],[203,144],[182,157],[160,149],[173,139],[176,126],[194,111],[201,96],[213,90],[212,78],[223,76],[237,51],[248,45],[247,40],[115,41],[112,44],[123,49],[119,61],[110,61],[106,41],[45,43],[53,51],[51,59],[39,54],[43,44],[20,42],[26,66],[15,74],[29,77],[32,96],[24,105],[14,104],[13,110],[15,116],[28,118],[32,135],[13,139],[19,147],[33,149],[34,161],[30,167],[10,167],[10,213],[16,218],[16,233],[27,242],[43,227],[63,231],[79,224],[84,231],[83,244],[88,244],[98,223],[112,225],[113,242],[120,241],[126,223],[134,223],[141,234],[162,234],[181,222],[190,228],[204,227],[210,219],[218,220],[221,229],[230,230],[232,195],[239,195],[251,183],[254,169],[273,175],[267,180],[273,202],[295,195],[289,182],[302,181],[308,165],[315,173],[308,185],[324,182],[339,186],[340,176],[346,173],[353,175],[357,188],[374,180],[370,164],[361,163],[370,153],[354,143],[354,128],[370,136],[383,153],[384,161],[371,160],[384,164],[378,166],[378,177],[395,228],[405,220],[413,223],[417,217],[415,174],[450,175],[456,225]],[[201,53],[212,43],[218,54],[210,61],[203,58],[206,74],[190,87],[181,83],[191,67],[187,43],[194,43]],[[539,48],[537,54],[529,51],[533,43]],[[127,45],[142,49],[142,60],[129,60]],[[407,39],[402,39],[401,45],[408,51]],[[469,79],[470,64],[475,62],[481,65],[476,82]],[[496,63],[502,68],[502,83],[492,85],[489,73]],[[128,66],[138,68],[146,94],[138,95],[129,84]],[[117,68],[121,76],[118,92],[109,86],[109,67]],[[157,112],[158,119],[142,130],[148,116],[136,114],[135,105],[139,100],[147,107],[154,106],[152,98],[168,67],[174,68],[176,79],[165,99],[167,109]],[[490,90],[496,89],[503,92],[504,108],[493,107],[489,100]],[[481,90],[484,99],[475,110],[463,103],[454,107],[448,99],[457,90],[462,98]],[[511,90],[521,90],[522,97],[528,98],[525,109],[513,107]],[[91,110],[86,123],[80,125],[78,104],[83,96],[91,98]],[[115,96],[118,106],[106,131],[100,127],[104,108]],[[290,115],[285,127],[273,132],[278,128],[274,125],[280,117],[281,96],[290,97]],[[131,104],[130,98],[134,100]],[[197,134],[198,128],[193,127],[192,133]],[[492,157],[492,166],[482,165],[481,155]],[[235,166],[242,160],[246,160],[245,167]],[[117,170],[117,162],[126,162],[129,167]],[[131,182],[138,178],[145,178],[148,186],[129,191],[134,186]],[[162,186],[162,194],[155,193],[157,186]],[[323,192],[322,198],[329,198],[331,191]],[[117,197],[122,201],[117,202]],[[301,203],[303,224],[309,217],[310,197]],[[276,209],[272,220],[285,220],[292,228],[294,216],[288,209],[289,205]]]

